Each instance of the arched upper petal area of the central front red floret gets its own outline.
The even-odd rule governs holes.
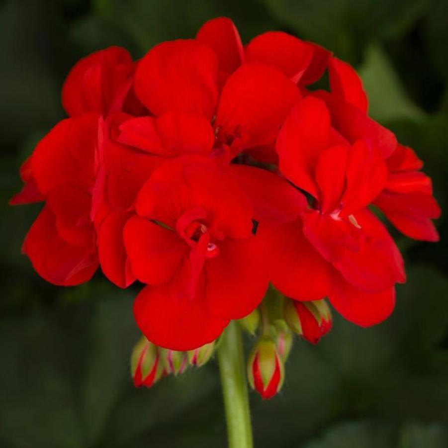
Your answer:
[[[207,225],[231,238],[252,231],[252,205],[230,175],[211,160],[183,156],[166,162],[142,187],[137,213],[176,228],[186,211],[202,207]]]

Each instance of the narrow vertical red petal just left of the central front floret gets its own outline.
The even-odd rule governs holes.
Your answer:
[[[98,231],[101,269],[104,275],[120,288],[127,288],[136,278],[131,271],[123,238],[123,228],[130,216],[131,213],[110,213]]]

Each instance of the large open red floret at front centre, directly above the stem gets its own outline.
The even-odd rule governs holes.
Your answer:
[[[150,341],[200,347],[262,300],[268,273],[251,204],[212,161],[166,162],[141,189],[136,210],[124,240],[133,272],[148,284],[134,314]]]

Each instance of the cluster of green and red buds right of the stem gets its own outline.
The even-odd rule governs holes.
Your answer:
[[[247,372],[252,388],[268,399],[282,387],[284,363],[292,348],[292,333],[317,344],[330,331],[332,317],[325,300],[299,302],[276,294],[265,300],[260,310],[240,323],[252,336],[261,327],[261,335],[248,359]]]

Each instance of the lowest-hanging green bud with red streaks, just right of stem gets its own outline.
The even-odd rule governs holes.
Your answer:
[[[275,342],[262,338],[248,360],[249,384],[264,399],[273,397],[283,385],[284,370]]]

